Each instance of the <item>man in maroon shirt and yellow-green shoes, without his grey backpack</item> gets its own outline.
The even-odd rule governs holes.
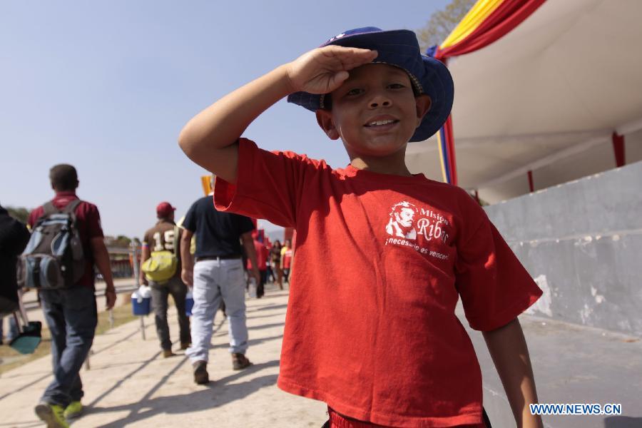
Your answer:
[[[107,309],[116,303],[116,290],[98,208],[76,196],[79,184],[76,168],[66,164],[55,165],[49,171],[49,179],[56,195],[53,200],[31,211],[29,226],[34,230],[41,218],[71,210],[82,244],[84,270],[71,287],[39,290],[51,332],[54,379],[45,389],[35,411],[48,427],[68,427],[66,418],[78,417],[83,411],[81,398],[84,393],[79,372],[91,349],[98,323],[94,264],[105,280]]]

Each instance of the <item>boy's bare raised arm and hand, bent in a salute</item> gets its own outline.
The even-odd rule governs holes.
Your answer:
[[[194,116],[180,132],[180,148],[198,165],[236,183],[237,141],[255,118],[289,93],[334,91],[348,78],[347,71],[376,57],[376,51],[332,45],[309,51]]]

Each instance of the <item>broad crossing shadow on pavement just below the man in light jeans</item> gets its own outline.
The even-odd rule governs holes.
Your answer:
[[[197,392],[151,399],[150,397],[185,363],[185,361],[187,361],[187,358],[179,362],[176,367],[159,380],[158,383],[154,385],[147,394],[145,394],[145,397],[138,402],[114,407],[90,407],[87,409],[87,414],[128,411],[129,414],[126,417],[122,417],[121,419],[109,424],[101,425],[103,428],[123,427],[126,424],[147,419],[149,417],[156,416],[157,414],[180,414],[220,407],[223,404],[243,399],[244,397],[258,391],[258,389],[275,384],[278,377],[277,374],[270,374],[267,376],[257,377],[249,380],[248,382],[235,384],[229,383],[239,379],[240,377],[258,372],[259,370],[263,370],[267,367],[278,366],[278,360],[274,360],[253,365],[242,372],[231,374],[230,376],[223,377],[222,379],[215,379],[213,382],[210,382],[210,384]]]

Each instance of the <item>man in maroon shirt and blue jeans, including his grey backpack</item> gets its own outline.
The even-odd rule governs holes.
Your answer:
[[[83,409],[78,373],[98,323],[94,264],[106,283],[107,309],[116,302],[116,290],[98,208],[76,196],[76,168],[54,165],[49,179],[56,195],[29,215],[31,239],[21,256],[18,279],[39,291],[51,332],[54,380],[36,414],[48,427],[68,427],[66,418],[79,416]]]

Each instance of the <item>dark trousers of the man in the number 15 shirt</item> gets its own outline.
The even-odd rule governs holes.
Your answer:
[[[190,340],[190,320],[185,315],[185,295],[187,287],[183,284],[178,276],[171,278],[168,282],[158,284],[150,281],[152,307],[154,310],[154,320],[156,321],[156,335],[161,341],[163,350],[172,349],[172,341],[169,335],[169,325],[167,322],[167,298],[172,295],[178,312],[178,327],[180,330],[180,342],[189,343]]]

